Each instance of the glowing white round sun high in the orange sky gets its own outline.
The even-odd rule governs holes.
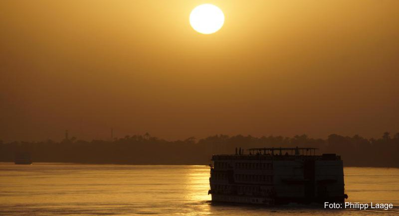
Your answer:
[[[224,24],[223,11],[213,4],[198,5],[191,11],[190,24],[202,34],[215,33]]]

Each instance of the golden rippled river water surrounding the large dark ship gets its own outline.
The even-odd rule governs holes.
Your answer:
[[[346,167],[348,202],[385,210],[212,204],[207,166],[0,163],[0,215],[399,215],[399,169]]]

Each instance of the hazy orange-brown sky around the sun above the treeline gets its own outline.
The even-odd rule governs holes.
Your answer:
[[[211,35],[191,10],[225,14]],[[0,139],[399,132],[398,0],[1,0]]]

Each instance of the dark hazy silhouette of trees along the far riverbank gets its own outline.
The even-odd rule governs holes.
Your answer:
[[[223,134],[196,140],[167,141],[149,133],[125,136],[114,140],[78,140],[65,138],[60,142],[0,141],[0,161],[12,162],[17,152],[29,152],[33,162],[67,162],[93,164],[203,164],[212,154],[234,154],[235,147],[314,147],[322,153],[337,153],[344,166],[399,167],[399,133],[385,132],[381,138],[367,139],[359,135],[331,134],[327,139]],[[248,152],[244,152],[248,153]]]

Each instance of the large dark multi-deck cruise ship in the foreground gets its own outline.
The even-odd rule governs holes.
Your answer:
[[[343,203],[341,156],[316,155],[317,148],[235,149],[213,155],[209,185],[212,202],[278,205]]]

